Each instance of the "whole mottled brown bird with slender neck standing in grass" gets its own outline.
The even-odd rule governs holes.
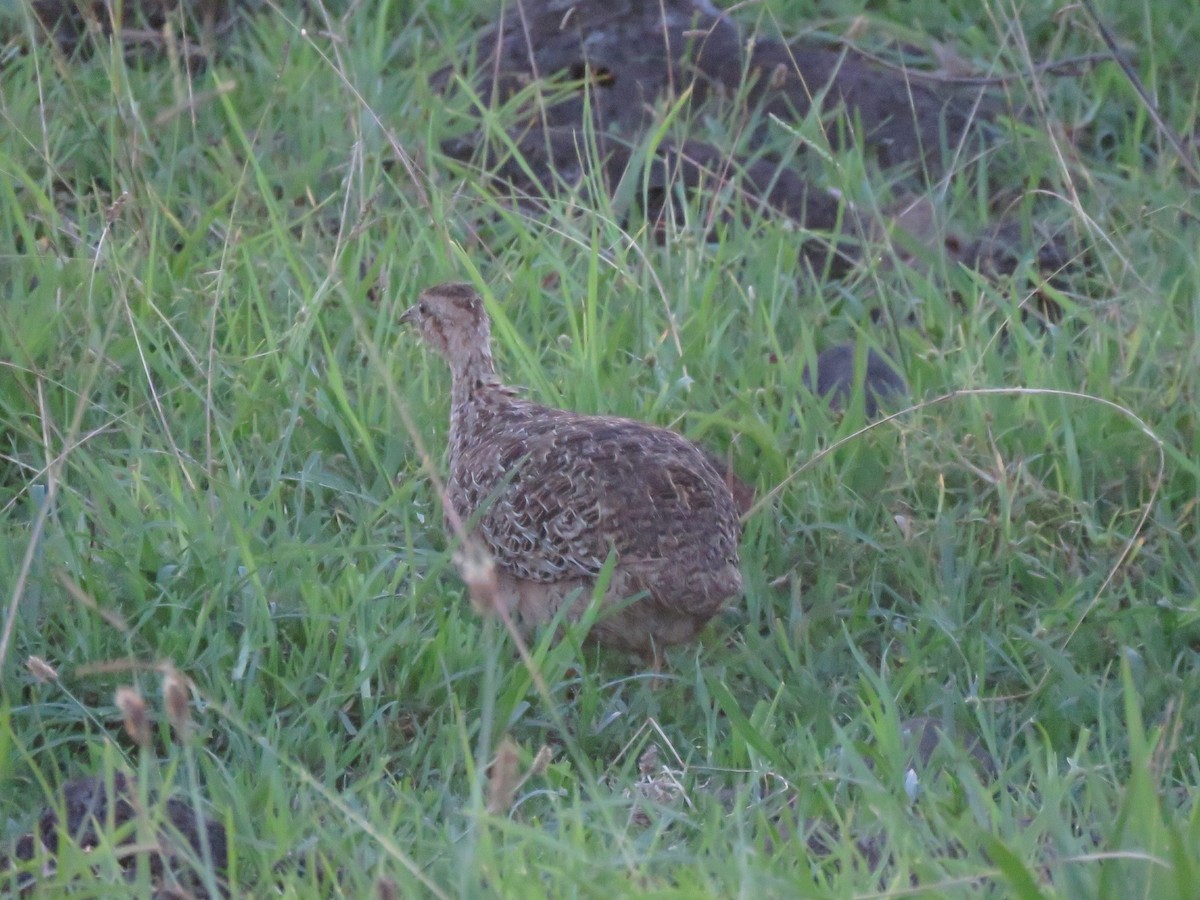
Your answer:
[[[448,499],[491,552],[500,600],[523,626],[568,600],[577,619],[610,553],[592,636],[655,661],[742,592],[734,498],[698,446],[520,398],[496,374],[487,312],[468,284],[428,288],[402,320],[450,364]]]

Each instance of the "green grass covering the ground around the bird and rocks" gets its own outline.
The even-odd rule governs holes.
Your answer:
[[[860,12],[812,6],[739,16],[841,34]],[[1192,6],[1104,7],[1194,136]],[[239,895],[1190,896],[1200,228],[1117,67],[1012,86],[1040,112],[988,163],[1026,226],[1086,253],[1042,328],[1020,277],[881,247],[823,278],[780,222],[707,240],[706,199],[661,245],[583,194],[514,211],[438,150],[473,113],[428,78],[472,10],[268,11],[203,71],[62,59],[5,13],[24,49],[0,64],[0,839],[124,768],[227,826]],[[878,2],[859,40],[928,34],[984,72],[1025,68],[1026,42],[1103,50],[1057,11]],[[860,154],[805,164],[884,216],[896,186]],[[986,216],[971,179],[936,198]],[[397,325],[448,278],[486,287],[500,367],[539,400],[671,425],[781,486],[746,523],[744,601],[660,690],[578,635],[532,647],[534,677],[472,611],[418,449],[444,470],[448,372]],[[800,372],[856,334],[918,400],[1040,392],[852,437],[860,412],[832,416]],[[194,684],[187,740],[168,664]],[[950,744],[913,785],[912,716],[977,738],[995,776]],[[528,778],[488,811],[504,738]],[[92,866],[103,887],[72,881]],[[42,888],[122,884],[97,850]]]

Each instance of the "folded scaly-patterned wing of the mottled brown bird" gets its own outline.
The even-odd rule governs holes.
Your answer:
[[[460,511],[479,515],[503,568],[559,581],[598,574],[612,551],[634,566],[679,553],[736,560],[733,498],[690,440],[634,420],[536,412],[490,436],[486,460],[463,460],[473,476]]]

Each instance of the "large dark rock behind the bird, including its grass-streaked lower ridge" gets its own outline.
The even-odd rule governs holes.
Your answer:
[[[1000,112],[978,86],[920,80],[845,48],[750,38],[706,0],[522,0],[480,34],[469,58],[478,96],[493,108],[516,102],[505,110],[520,121],[509,133],[516,152],[480,132],[444,150],[520,202],[538,205],[560,188],[592,184],[612,194],[629,173],[646,172],[634,199],[660,227],[680,216],[677,186],[716,199],[733,184],[740,210],[722,210],[715,221],[786,216],[805,232],[799,250],[809,265],[834,275],[857,258],[859,235],[842,224],[852,217],[842,216],[840,197],[766,152],[772,115],[798,122],[821,97],[823,116],[838,113],[827,128],[834,146],[863,140],[881,166],[936,178],[947,151],[982,136],[978,126]],[[452,74],[443,70],[434,88],[448,88]],[[684,119],[752,122],[754,154],[661,139],[658,130],[677,104]]]

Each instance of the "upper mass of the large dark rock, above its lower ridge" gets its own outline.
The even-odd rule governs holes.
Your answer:
[[[654,126],[665,104],[680,98],[695,112],[739,96],[763,122],[768,115],[798,121],[821,97],[823,114],[845,112],[844,127],[830,131],[835,145],[858,122],[882,166],[935,178],[943,150],[954,151],[1001,110],[978,86],[923,80],[846,48],[751,40],[707,0],[523,0],[505,7],[475,49],[476,90],[493,104],[535,80],[580,85],[539,97],[529,113],[541,127],[588,122],[594,132],[628,137]]]

